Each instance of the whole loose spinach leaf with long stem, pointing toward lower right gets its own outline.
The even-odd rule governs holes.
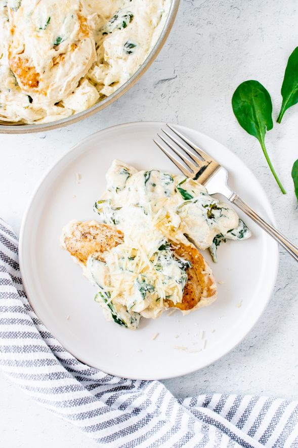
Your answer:
[[[286,192],[272,166],[265,146],[266,131],[273,128],[272,101],[269,92],[258,81],[245,81],[234,92],[232,107],[239,125],[258,138],[271,172],[281,192]]]

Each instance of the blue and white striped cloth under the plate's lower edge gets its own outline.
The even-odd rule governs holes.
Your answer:
[[[106,375],[69,354],[30,307],[18,240],[0,220],[0,365],[37,402],[102,446],[298,447],[298,402],[201,395]]]

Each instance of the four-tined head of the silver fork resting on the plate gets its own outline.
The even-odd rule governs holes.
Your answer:
[[[167,124],[167,127],[171,129],[179,137],[179,139],[175,135],[162,129],[162,132],[168,138],[166,139],[160,134],[157,135],[166,146],[163,146],[155,139],[153,141],[157,144],[161,151],[163,151],[163,153],[171,159],[173,163],[175,163],[183,174],[194,180],[199,180],[200,183],[204,183],[207,178],[219,167],[219,164],[173,126]],[[181,163],[181,161],[184,162],[189,170],[183,163]]]

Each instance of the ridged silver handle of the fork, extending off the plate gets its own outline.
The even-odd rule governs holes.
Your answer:
[[[257,222],[262,229],[264,229],[269,235],[271,235],[282,247],[284,247],[298,262],[298,247],[291,243],[284,235],[282,235],[277,229],[275,229],[269,222],[265,221],[257,212],[249,207],[236,193],[232,193],[228,197],[232,204],[237,205],[244,213],[247,214],[254,222]]]

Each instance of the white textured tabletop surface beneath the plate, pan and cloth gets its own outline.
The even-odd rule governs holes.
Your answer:
[[[69,128],[47,134],[0,135],[0,213],[16,231],[36,182],[71,145],[124,121],[160,120],[197,128],[235,151],[264,185],[279,229],[298,241],[298,208],[290,177],[292,163],[298,158],[298,106],[267,136],[268,151],[288,192],[284,197],[257,140],[240,129],[230,105],[240,82],[257,79],[270,91],[277,117],[286,60],[297,45],[296,0],[288,0],[286,6],[282,0],[181,3],[174,29],[157,61],[119,101]],[[297,264],[282,250],[275,293],[248,337],[216,364],[165,381],[166,386],[180,397],[234,392],[297,398],[296,273]],[[77,429],[40,408],[6,378],[0,379],[0,448],[96,446]]]

